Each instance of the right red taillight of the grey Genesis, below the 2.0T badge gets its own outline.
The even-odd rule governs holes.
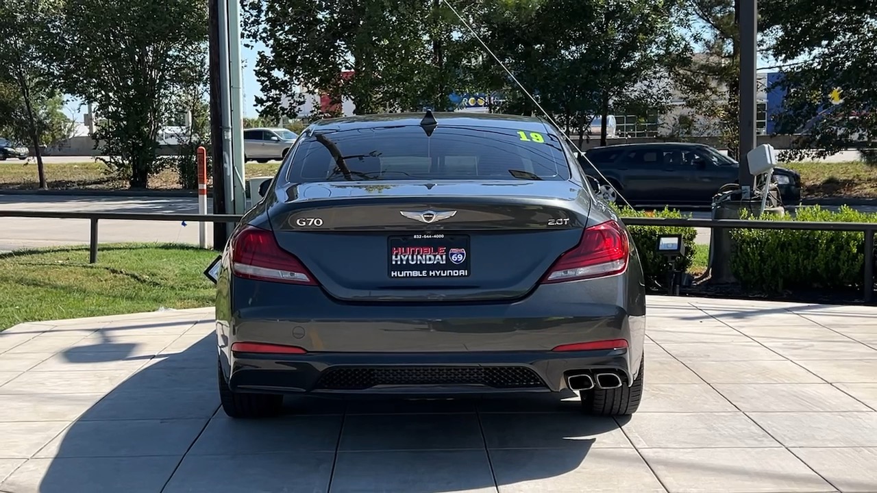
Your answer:
[[[624,272],[631,253],[627,234],[615,221],[591,226],[581,234],[581,241],[560,259],[542,282],[566,282]]]

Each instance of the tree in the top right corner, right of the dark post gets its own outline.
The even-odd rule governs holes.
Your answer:
[[[776,132],[797,134],[783,157],[866,156],[877,139],[877,1],[763,0],[766,45],[788,64]]]

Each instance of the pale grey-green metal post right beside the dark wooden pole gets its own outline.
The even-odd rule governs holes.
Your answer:
[[[228,0],[228,46],[229,67],[231,68],[232,103],[232,192],[234,194],[234,213],[246,212],[246,190],[244,182],[244,102],[241,96],[243,78],[240,60],[240,5],[239,0]]]

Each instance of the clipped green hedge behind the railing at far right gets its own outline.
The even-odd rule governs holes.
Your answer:
[[[842,206],[826,211],[802,207],[794,217],[766,216],[763,220],[820,222],[877,222],[877,214]],[[845,289],[861,287],[865,271],[862,232],[731,230],[731,271],[747,289]]]

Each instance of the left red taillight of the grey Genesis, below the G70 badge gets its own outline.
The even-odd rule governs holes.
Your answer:
[[[232,238],[232,273],[260,281],[317,285],[302,261],[277,245],[274,232],[251,225]]]

